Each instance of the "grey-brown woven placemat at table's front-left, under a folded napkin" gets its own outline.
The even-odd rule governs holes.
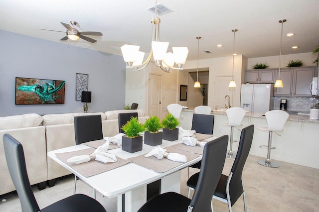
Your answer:
[[[76,170],[78,173],[80,173],[81,175],[85,177],[97,175],[102,172],[106,172],[106,171],[115,169],[117,167],[123,166],[127,163],[130,163],[129,160],[126,160],[120,157],[116,157],[117,159],[116,163],[103,163],[96,160],[91,160],[89,162],[80,163],[80,164],[71,164],[67,162],[67,160],[71,157],[91,154],[94,152],[94,150],[95,148],[88,148],[88,149],[83,149],[83,150],[73,151],[73,152],[55,153],[55,155],[63,163],[69,165],[71,168],[73,168],[74,170]]]

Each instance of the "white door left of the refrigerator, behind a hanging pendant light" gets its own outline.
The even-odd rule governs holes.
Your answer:
[[[230,106],[233,105],[233,88],[228,88],[229,82],[232,80],[232,76],[215,76],[214,77],[214,103],[212,109],[225,108],[225,105],[228,106],[228,98],[225,99],[225,96],[230,97]]]

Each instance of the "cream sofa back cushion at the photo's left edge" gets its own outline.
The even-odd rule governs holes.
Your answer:
[[[42,120],[42,116],[36,113],[0,117],[0,130],[40,126]]]

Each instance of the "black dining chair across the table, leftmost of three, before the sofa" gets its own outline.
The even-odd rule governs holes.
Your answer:
[[[101,115],[82,115],[74,117],[74,132],[76,145],[103,139]],[[74,194],[76,193],[76,182],[79,178],[74,178]],[[96,199],[96,192],[93,189],[93,198]]]

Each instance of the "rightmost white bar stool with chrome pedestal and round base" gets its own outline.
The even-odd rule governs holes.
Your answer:
[[[281,132],[284,129],[284,126],[286,124],[286,121],[289,117],[288,112],[284,110],[270,110],[265,113],[266,120],[268,127],[258,127],[258,129],[261,130],[267,130],[269,131],[269,138],[268,138],[268,146],[262,145],[259,146],[261,148],[267,148],[268,153],[267,153],[267,159],[266,160],[258,160],[257,163],[266,166],[266,167],[272,167],[272,168],[278,168],[280,165],[276,162],[270,161],[270,152],[271,149],[275,149],[275,147],[272,147],[272,137],[273,137],[273,132]],[[277,133],[276,133],[277,134]],[[278,134],[279,135],[279,134]]]

